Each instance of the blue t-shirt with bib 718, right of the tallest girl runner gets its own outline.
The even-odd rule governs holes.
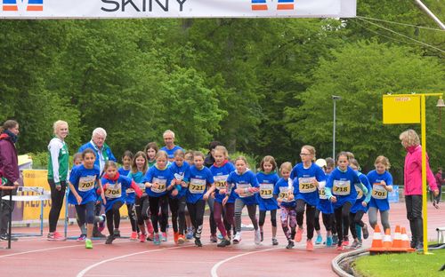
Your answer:
[[[344,171],[336,167],[331,172],[326,187],[330,189],[332,195],[336,196],[336,202],[332,203],[334,209],[343,207],[345,202],[351,202],[351,206],[355,203],[357,200],[355,184],[360,184],[360,178],[349,166]]]

